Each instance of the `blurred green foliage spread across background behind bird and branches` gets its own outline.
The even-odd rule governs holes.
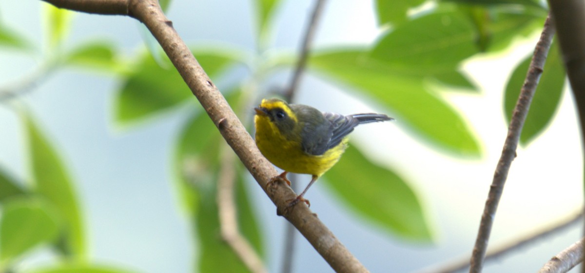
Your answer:
[[[430,4],[429,4],[430,3]],[[164,1],[163,8],[172,6]],[[339,45],[315,49],[308,73],[357,96],[376,100],[390,109],[401,126],[443,153],[477,158],[481,140],[473,126],[442,96],[441,88],[477,92],[473,82],[460,71],[460,64],[472,56],[507,49],[512,40],[525,37],[542,27],[547,14],[539,1],[375,1],[378,24],[387,27],[378,40],[367,46]],[[255,89],[283,67],[290,69],[294,53],[269,54],[274,16],[283,6],[277,0],[253,1],[252,16],[261,50],[196,45],[192,51],[212,79],[221,79],[233,68],[245,67],[248,74],[222,91],[230,105],[252,131],[249,109],[257,98],[273,96]],[[1,8],[1,5],[0,5]],[[419,10],[417,12],[417,10]],[[150,51],[137,50],[125,59],[115,44],[104,40],[64,47],[75,20],[72,12],[46,5],[46,45],[33,44],[26,33],[19,33],[0,21],[0,46],[29,54],[46,46],[42,72],[50,74],[66,67],[116,77],[112,109],[113,123],[129,127],[149,126],[149,120],[189,105],[183,130],[178,133],[172,159],[174,180],[190,217],[192,242],[198,246],[195,272],[246,272],[233,251],[219,236],[216,185],[222,140],[215,126],[195,102],[190,90],[168,58],[152,41]],[[238,22],[234,22],[238,23]],[[32,53],[31,53],[32,54]],[[529,56],[529,52],[526,52]],[[545,73],[526,120],[522,143],[528,144],[550,122],[560,100],[565,74],[558,50],[553,46]],[[524,80],[529,57],[518,65],[508,81],[503,109],[509,119],[515,98]],[[0,94],[2,99],[8,94]],[[52,247],[62,262],[33,272],[129,272],[95,264],[88,260],[87,227],[79,206],[76,182],[64,165],[59,151],[46,136],[47,128],[37,125],[27,110],[22,116],[23,137],[29,153],[30,183],[0,171],[0,271],[15,267],[27,253],[39,247]],[[437,122],[441,120],[441,122]],[[50,130],[50,129],[49,129]],[[261,254],[267,242],[250,202],[247,170],[237,170],[236,202],[239,229]],[[0,169],[1,170],[1,169]],[[381,167],[356,146],[350,147],[339,164],[325,175],[328,187],[339,196],[344,208],[357,219],[374,223],[392,236],[409,241],[433,240],[432,223],[424,202],[399,171]],[[363,183],[353,183],[361,180]]]

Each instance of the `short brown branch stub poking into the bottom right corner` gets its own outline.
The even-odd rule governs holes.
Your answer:
[[[583,245],[585,239],[577,241],[565,250],[552,257],[538,273],[564,273],[583,261]]]

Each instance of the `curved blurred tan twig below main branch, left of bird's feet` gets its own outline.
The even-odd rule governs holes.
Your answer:
[[[222,147],[222,165],[219,171],[217,185],[217,203],[219,211],[219,226],[221,236],[232,250],[240,257],[247,268],[254,273],[267,272],[264,264],[252,245],[240,234],[238,229],[238,210],[234,202],[236,171],[235,154],[231,153],[228,146]]]

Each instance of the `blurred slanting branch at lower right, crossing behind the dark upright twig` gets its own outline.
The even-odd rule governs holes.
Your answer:
[[[512,251],[516,251],[522,247],[528,246],[528,244],[535,243],[536,241],[543,240],[548,236],[559,233],[560,231],[565,230],[567,227],[581,222],[581,220],[583,220],[583,212],[576,213],[576,215],[567,217],[567,219],[563,219],[559,223],[534,231],[522,238],[514,239],[514,241],[491,248],[486,253],[485,261],[488,262],[497,260],[498,258],[511,253]],[[457,261],[450,262],[449,264],[441,265],[440,267],[419,271],[418,273],[449,273],[463,271],[467,268],[469,268],[469,258],[462,258]]]

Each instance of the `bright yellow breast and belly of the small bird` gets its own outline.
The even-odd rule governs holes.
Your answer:
[[[298,174],[321,176],[341,157],[347,147],[343,139],[322,155],[312,155],[302,150],[300,141],[286,139],[268,116],[256,115],[256,145],[260,152],[276,167]]]

